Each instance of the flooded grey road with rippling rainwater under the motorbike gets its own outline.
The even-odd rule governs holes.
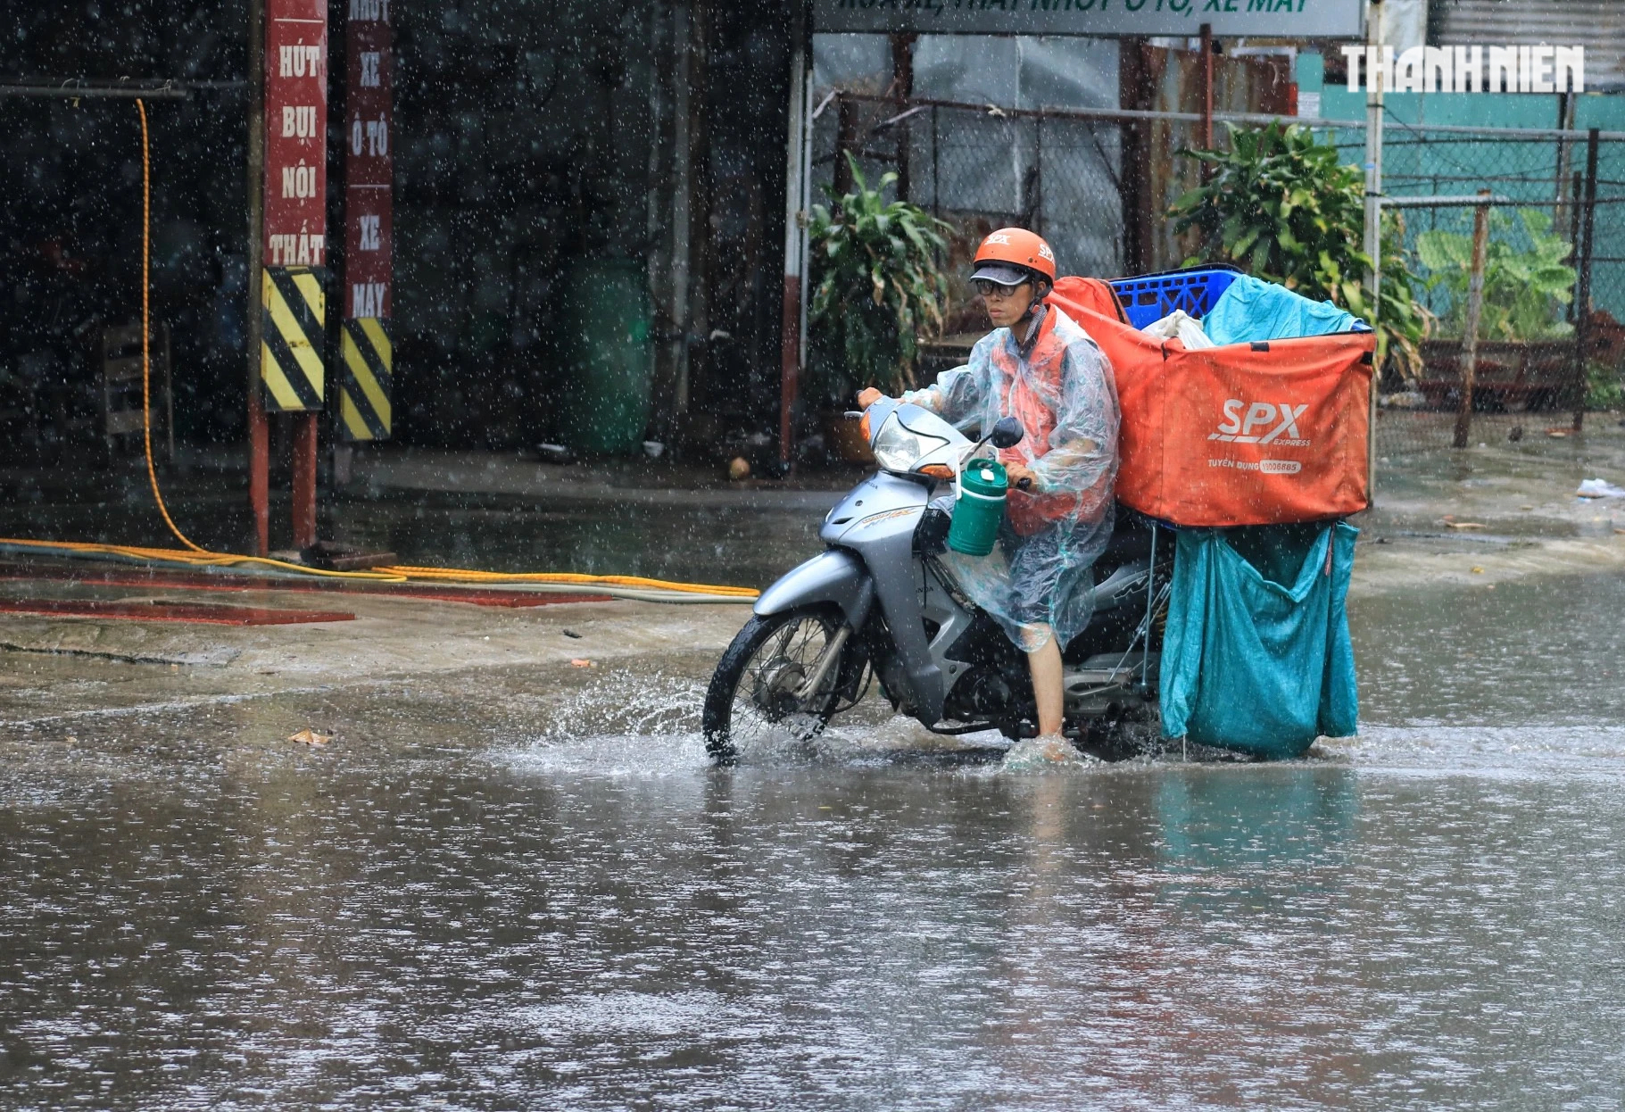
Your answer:
[[[1276,766],[712,771],[700,655],[6,727],[0,1104],[1618,1107],[1625,582],[1350,611]]]

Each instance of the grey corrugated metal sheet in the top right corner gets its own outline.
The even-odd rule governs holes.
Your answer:
[[[1586,88],[1625,89],[1622,0],[1443,0],[1435,28],[1451,46],[1584,46]]]

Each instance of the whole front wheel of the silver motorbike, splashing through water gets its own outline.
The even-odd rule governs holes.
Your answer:
[[[811,741],[843,699],[858,697],[863,660],[842,626],[838,611],[822,606],[744,623],[705,689],[700,723],[713,761],[730,764],[762,743]],[[826,662],[830,652],[840,658]]]

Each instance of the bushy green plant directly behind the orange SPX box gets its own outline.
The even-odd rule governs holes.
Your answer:
[[[1422,366],[1428,314],[1404,250],[1398,213],[1383,221],[1383,283],[1376,314],[1363,288],[1365,179],[1295,124],[1228,125],[1230,150],[1180,151],[1212,166],[1212,177],[1185,193],[1168,216],[1173,229],[1202,232],[1209,258],[1224,258],[1305,298],[1331,299],[1378,320],[1378,345],[1402,372]],[[1190,260],[1196,262],[1196,260]]]

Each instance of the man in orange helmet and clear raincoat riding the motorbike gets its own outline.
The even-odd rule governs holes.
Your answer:
[[[910,390],[912,402],[962,431],[983,432],[1004,416],[1025,437],[998,452],[1011,491],[999,545],[986,558],[946,553],[970,598],[1027,654],[1038,738],[1019,743],[1024,759],[1066,761],[1061,735],[1061,649],[1089,624],[1090,566],[1112,536],[1112,488],[1118,468],[1118,397],[1112,364],[1066,314],[1043,304],[1055,283],[1055,254],[1024,228],[1001,228],[977,249],[970,285],[993,332],[970,363]],[[868,408],[884,395],[858,393]],[[1014,751],[1012,751],[1014,753]]]

